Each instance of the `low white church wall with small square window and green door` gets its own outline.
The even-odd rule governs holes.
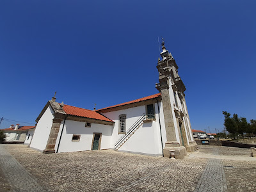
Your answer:
[[[93,142],[93,132],[102,133],[99,149],[111,148],[112,125],[92,124],[91,127],[85,127],[84,122],[66,120],[60,141],[62,128],[63,123],[60,127],[60,131],[55,145],[56,152],[59,142],[60,147],[58,149],[58,152],[91,150]],[[73,134],[80,135],[80,140],[72,141]]]

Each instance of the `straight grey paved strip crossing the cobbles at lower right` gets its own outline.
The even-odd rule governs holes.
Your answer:
[[[195,192],[227,191],[223,164],[220,159],[209,159]]]

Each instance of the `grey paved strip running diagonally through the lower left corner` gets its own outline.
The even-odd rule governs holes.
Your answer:
[[[0,154],[1,169],[6,179],[12,181],[10,184],[13,191],[45,191],[3,145],[0,145]]]

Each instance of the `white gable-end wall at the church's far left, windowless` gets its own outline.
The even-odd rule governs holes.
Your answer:
[[[44,150],[52,127],[53,111],[49,106],[38,121],[30,147]]]

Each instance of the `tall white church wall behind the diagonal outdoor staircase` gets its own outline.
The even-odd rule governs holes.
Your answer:
[[[132,136],[118,150],[151,155],[162,154],[157,104],[154,104],[154,107],[156,112],[156,121],[143,123],[143,125],[141,125],[141,127],[134,134],[132,134]],[[159,108],[161,108],[161,102],[159,102]],[[128,131],[134,122],[136,122],[145,112],[146,106],[138,106],[135,108],[103,113],[103,115],[115,122],[113,127],[111,148],[115,148],[115,142],[124,135],[118,134],[119,115],[126,115],[126,131]],[[160,118],[163,118],[163,116],[160,116]],[[163,123],[164,120],[161,122],[161,124]],[[164,127],[164,124],[162,127]],[[165,135],[165,130],[162,130],[162,132],[164,132]]]

